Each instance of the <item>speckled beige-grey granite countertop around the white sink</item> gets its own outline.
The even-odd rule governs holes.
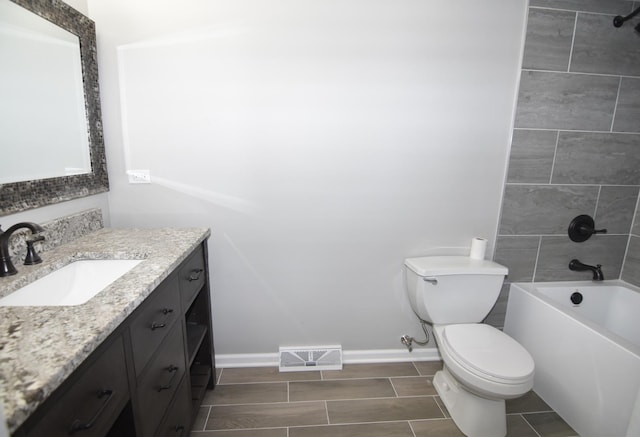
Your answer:
[[[80,259],[144,261],[87,303],[0,307],[0,399],[10,432],[210,236],[207,228],[104,228],[41,254],[43,262],[0,278],[0,297]]]

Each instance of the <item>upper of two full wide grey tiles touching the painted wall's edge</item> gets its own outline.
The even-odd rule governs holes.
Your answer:
[[[620,79],[523,71],[517,128],[609,131]]]

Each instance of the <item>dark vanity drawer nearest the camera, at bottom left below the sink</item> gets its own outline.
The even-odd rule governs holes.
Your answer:
[[[60,395],[52,396],[46,415],[28,426],[26,435],[104,436],[129,399],[122,336],[99,352],[99,358],[78,368]]]

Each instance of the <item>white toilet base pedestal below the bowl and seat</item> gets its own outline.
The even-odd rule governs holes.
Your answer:
[[[451,418],[466,436],[507,435],[507,416],[503,399],[486,399],[465,390],[446,366],[436,372],[433,385],[449,410]]]

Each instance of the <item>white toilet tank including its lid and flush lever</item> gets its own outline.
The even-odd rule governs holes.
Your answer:
[[[506,267],[466,256],[425,256],[404,262],[413,311],[435,325],[479,323],[498,300]]]

